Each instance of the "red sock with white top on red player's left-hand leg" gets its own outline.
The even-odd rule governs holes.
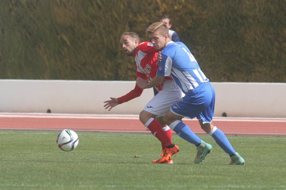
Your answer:
[[[172,144],[172,141],[167,136],[167,134],[162,129],[160,123],[154,119],[150,118],[146,123],[145,126],[151,131],[151,133],[160,140],[160,142],[164,146],[169,146]]]

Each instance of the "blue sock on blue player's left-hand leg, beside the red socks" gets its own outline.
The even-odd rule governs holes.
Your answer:
[[[181,122],[180,120],[176,120],[169,126],[172,128],[179,137],[183,138],[184,140],[198,146],[201,140],[196,134],[194,134],[186,124]]]

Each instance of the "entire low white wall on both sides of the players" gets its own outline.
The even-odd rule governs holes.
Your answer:
[[[104,109],[103,101],[134,89],[135,81],[0,80],[0,112],[139,114],[153,89]],[[215,83],[215,116],[286,117],[286,83]]]

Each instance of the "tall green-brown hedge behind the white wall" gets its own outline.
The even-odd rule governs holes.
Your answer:
[[[210,81],[286,82],[285,0],[1,0],[0,79],[135,80],[120,46],[162,14]]]

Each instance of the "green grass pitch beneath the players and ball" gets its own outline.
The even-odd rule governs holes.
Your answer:
[[[229,156],[210,136],[213,152],[194,164],[196,148],[173,135],[174,164],[152,164],[161,152],[151,134],[77,132],[63,152],[58,131],[0,131],[0,189],[285,189],[285,137],[228,136],[246,161]],[[284,176],[284,177],[283,177]]]

